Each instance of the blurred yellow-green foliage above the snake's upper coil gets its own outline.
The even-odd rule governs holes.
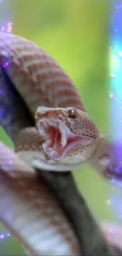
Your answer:
[[[101,126],[103,119],[99,120],[98,108],[92,102],[99,106],[100,94],[105,98],[104,102],[107,99],[109,1],[53,0],[51,5],[49,1],[41,1],[41,5],[36,0],[35,6],[33,2],[29,3],[28,13],[26,1],[22,18],[19,10],[23,1],[18,2],[20,8],[17,7],[13,31],[39,44],[60,62],[76,86],[82,87],[79,93],[86,109]],[[36,19],[32,18],[32,13],[36,13]],[[91,100],[87,100],[88,94],[91,94]],[[99,111],[104,118],[102,107],[101,104]]]

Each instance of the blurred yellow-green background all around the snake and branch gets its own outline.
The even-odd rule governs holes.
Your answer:
[[[12,21],[14,34],[37,43],[60,63],[103,133],[109,132],[110,13],[110,0],[6,0],[0,3],[0,25]],[[13,146],[2,128],[0,138],[9,147]],[[90,166],[74,174],[94,215],[99,220],[121,223],[122,192],[102,180]],[[1,226],[0,230],[5,228]],[[1,241],[0,254],[20,255],[23,250],[10,236]]]

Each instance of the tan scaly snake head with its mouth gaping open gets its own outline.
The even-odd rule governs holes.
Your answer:
[[[101,133],[88,114],[80,109],[39,107],[36,128],[43,137],[48,161],[79,163],[91,158]],[[70,160],[69,160],[70,159]]]

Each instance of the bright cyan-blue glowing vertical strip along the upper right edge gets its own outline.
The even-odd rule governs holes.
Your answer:
[[[122,3],[114,6],[111,33],[113,44],[109,46],[110,54],[110,92],[109,98],[112,100],[111,120],[113,122],[113,139],[122,140]],[[113,115],[114,113],[114,115]]]

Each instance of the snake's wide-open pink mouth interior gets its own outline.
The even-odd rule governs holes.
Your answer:
[[[74,135],[60,120],[43,119],[38,121],[39,134],[45,139],[43,150],[50,159],[61,160],[72,147],[80,143],[90,143],[91,139]]]

